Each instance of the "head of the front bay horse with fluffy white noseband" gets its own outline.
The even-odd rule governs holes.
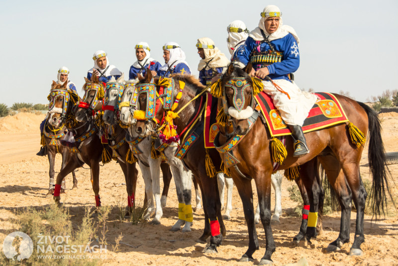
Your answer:
[[[240,135],[248,132],[249,122],[247,119],[254,112],[254,96],[259,92],[254,83],[261,83],[261,81],[255,81],[256,78],[249,76],[251,69],[251,63],[243,69],[235,67],[231,63],[220,80],[221,95],[219,96],[222,99],[223,112],[232,123],[233,132]]]

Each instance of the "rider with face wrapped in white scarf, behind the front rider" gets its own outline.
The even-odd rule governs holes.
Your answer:
[[[241,20],[234,20],[227,27],[228,38],[227,46],[231,54],[231,61],[237,61],[236,54],[244,47],[245,41],[249,36],[249,30]]]

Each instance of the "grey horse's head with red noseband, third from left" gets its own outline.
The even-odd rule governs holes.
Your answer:
[[[111,78],[109,82],[106,83],[105,87],[105,100],[103,103],[103,116],[102,120],[106,125],[114,125],[117,121],[119,104],[121,101],[121,96],[124,90],[124,75],[122,74],[120,78],[115,80],[114,77]]]

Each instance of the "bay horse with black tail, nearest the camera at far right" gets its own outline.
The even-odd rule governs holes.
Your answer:
[[[254,96],[262,91],[262,83],[257,78],[251,78],[248,73],[252,69],[249,63],[244,69],[230,64],[217,84],[212,87],[213,96],[222,99],[224,115],[231,122],[230,126],[220,127],[220,133],[214,140],[222,147],[234,141],[235,144],[228,152],[233,154],[237,167],[229,170],[241,197],[245,219],[249,232],[249,246],[241,261],[252,261],[253,253],[259,249],[257,233],[253,219],[253,203],[251,194],[251,180],[254,179],[260,203],[260,218],[266,234],[266,251],[260,265],[272,264],[271,256],[276,246],[271,230],[270,191],[271,173],[275,157],[271,150],[276,147],[267,128],[263,126],[254,110]],[[357,210],[354,243],[350,249],[351,256],[363,254],[361,244],[364,242],[363,223],[367,192],[363,186],[359,162],[364,149],[364,136],[369,134],[369,164],[373,176],[373,204],[375,215],[380,215],[389,191],[387,170],[385,164],[384,146],[380,133],[380,121],[377,113],[363,103],[350,98],[333,94],[347,115],[348,123],[332,125],[330,127],[305,133],[310,152],[301,157],[293,157],[293,139],[286,139],[287,156],[279,169],[294,169],[317,158],[326,172],[329,183],[338,195],[341,206],[341,227],[338,238],[331,242],[327,251],[336,251],[349,242],[351,198]],[[239,103],[236,102],[239,99]],[[239,106],[239,110],[236,108]],[[252,111],[250,112],[250,109]],[[249,112],[248,112],[249,110]],[[243,116],[240,111],[245,112]],[[257,113],[257,114],[256,114]],[[249,115],[251,116],[249,117]],[[248,118],[249,117],[249,118]],[[355,126],[354,126],[355,125]],[[236,143],[237,138],[238,143]],[[220,155],[225,162],[226,154],[220,148]],[[312,163],[315,165],[314,163]],[[314,174],[313,166],[308,166],[308,176]],[[311,170],[312,169],[312,170]],[[302,175],[302,178],[306,178]],[[311,187],[306,187],[309,197]],[[250,193],[249,193],[250,191]],[[316,224],[317,203],[310,206],[308,225]],[[306,232],[310,239],[314,231]]]

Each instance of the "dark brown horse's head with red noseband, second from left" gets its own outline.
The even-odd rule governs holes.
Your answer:
[[[93,115],[102,109],[102,99],[104,96],[102,83],[100,83],[96,75],[93,75],[91,80],[85,77],[85,80],[86,83],[83,85],[84,97],[76,111],[76,120],[78,122],[91,120]]]

